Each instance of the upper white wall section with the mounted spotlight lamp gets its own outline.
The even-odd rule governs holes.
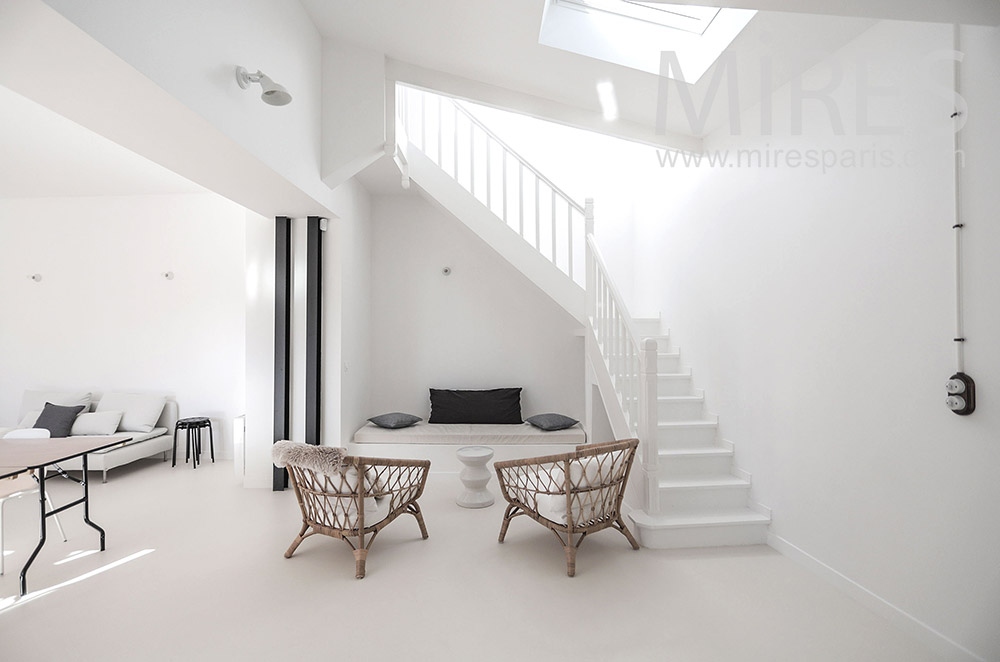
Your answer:
[[[296,0],[46,1],[301,190],[329,200],[320,179],[322,40]],[[262,70],[292,102],[269,106],[260,86],[240,89],[237,65]]]

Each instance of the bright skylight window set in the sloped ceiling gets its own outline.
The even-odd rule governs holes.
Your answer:
[[[547,0],[538,43],[659,74],[676,55],[671,78],[697,83],[756,11],[638,0]]]

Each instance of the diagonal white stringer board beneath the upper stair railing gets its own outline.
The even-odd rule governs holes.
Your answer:
[[[406,153],[409,176],[421,193],[472,230],[549,298],[584,324],[583,288],[535,250],[420,149],[413,144],[408,147]]]

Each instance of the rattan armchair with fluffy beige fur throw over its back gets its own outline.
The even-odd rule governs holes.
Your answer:
[[[355,577],[362,579],[375,537],[400,515],[413,515],[420,535],[427,538],[417,499],[427,483],[428,460],[352,457],[340,448],[290,441],[275,443],[273,457],[277,466],[288,469],[302,511],[302,529],[285,558],[303,540],[321,533],[350,545]]]

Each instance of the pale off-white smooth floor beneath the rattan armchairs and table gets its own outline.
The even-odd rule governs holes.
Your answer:
[[[57,504],[76,489],[50,482]],[[634,552],[604,531],[571,579],[551,533],[520,518],[499,545],[502,506],[459,508],[458,487],[432,475],[430,538],[400,518],[359,581],[340,541],[283,558],[300,524],[290,491],[244,490],[225,462],[135,463],[93,485],[107,551],[88,554],[96,532],[66,512],[69,542],[50,537],[20,600],[37,502],[8,503],[0,659],[938,659],[768,547]]]

